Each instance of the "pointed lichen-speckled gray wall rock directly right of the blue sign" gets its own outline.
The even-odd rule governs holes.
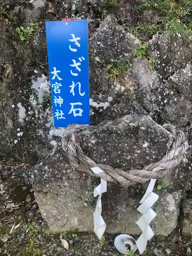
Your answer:
[[[127,77],[128,67],[125,74],[111,80],[110,68],[113,68],[114,63],[124,58],[131,63],[134,51],[140,41],[132,34],[127,33],[117,23],[117,19],[113,15],[107,16],[100,24],[99,28],[92,34],[89,40],[89,68],[90,68],[90,106],[92,119],[97,116],[98,121],[108,119],[111,117],[121,117],[131,113],[131,108],[134,106],[133,93],[130,89],[133,85],[130,78]],[[131,85],[131,86],[130,86]],[[133,91],[133,90],[132,90]],[[130,108],[125,106],[130,102],[129,96],[132,100]],[[113,105],[118,105],[117,109],[127,110],[127,113],[112,110]],[[132,106],[131,106],[132,105]],[[142,109],[140,107],[140,109]],[[106,110],[106,111],[105,111]],[[103,112],[108,112],[104,114]]]

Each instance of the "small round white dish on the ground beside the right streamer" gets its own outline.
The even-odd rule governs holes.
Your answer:
[[[114,244],[116,249],[121,253],[129,254],[130,250],[127,250],[126,245],[122,241],[122,239],[125,239],[125,238],[128,238],[131,240],[131,242],[133,242],[134,244],[133,251],[136,251],[137,250],[136,241],[133,237],[129,236],[129,234],[119,234],[119,236],[115,238]]]

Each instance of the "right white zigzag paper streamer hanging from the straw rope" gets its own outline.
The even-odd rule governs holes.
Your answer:
[[[158,195],[153,193],[155,182],[156,179],[151,179],[150,184],[148,185],[147,190],[140,201],[141,205],[137,208],[137,210],[142,214],[142,216],[136,222],[136,224],[142,230],[141,236],[136,241],[137,248],[141,254],[145,251],[147,241],[151,240],[154,236],[150,223],[155,218],[156,213],[153,209],[151,209],[151,207],[159,198]]]

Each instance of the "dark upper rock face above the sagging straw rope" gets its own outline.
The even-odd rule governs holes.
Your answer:
[[[82,132],[77,141],[95,162],[99,157],[101,163],[128,170],[157,161],[172,140],[150,117],[135,113]]]

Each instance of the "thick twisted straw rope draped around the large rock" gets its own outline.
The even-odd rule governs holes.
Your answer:
[[[174,141],[171,150],[157,163],[151,163],[143,169],[131,169],[125,172],[122,169],[113,168],[106,164],[96,164],[90,159],[81,147],[76,143],[74,130],[75,125],[70,125],[64,132],[62,138],[62,150],[67,155],[72,167],[82,170],[89,175],[95,174],[91,167],[100,167],[104,173],[97,174],[98,177],[108,182],[116,182],[124,187],[134,185],[135,183],[145,183],[151,178],[157,179],[166,176],[171,169],[179,165],[185,159],[185,153],[188,149],[188,142],[181,131],[176,131],[170,124],[163,125]]]

